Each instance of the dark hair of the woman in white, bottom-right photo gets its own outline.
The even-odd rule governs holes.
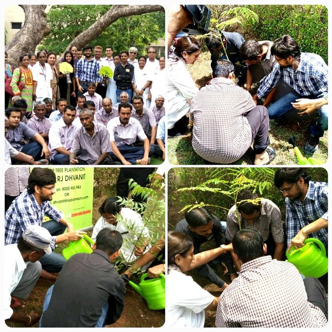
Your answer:
[[[194,245],[190,235],[180,233],[175,230],[169,231],[167,235],[167,255],[168,255],[168,271],[175,269],[179,271],[179,267],[175,262],[175,256],[185,256]]]

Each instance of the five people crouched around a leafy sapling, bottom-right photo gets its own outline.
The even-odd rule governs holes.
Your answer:
[[[168,233],[171,326],[204,327],[204,310],[216,311],[216,327],[327,324],[324,286],[284,261],[284,253],[305,246],[307,237],[319,239],[328,253],[328,184],[312,181],[303,168],[279,168],[274,183],[285,197],[285,228],[276,204],[244,190],[226,222],[204,207],[193,208]],[[210,240],[215,249],[202,252],[201,244]],[[224,267],[221,274],[230,275],[230,284],[208,262]],[[192,269],[220,287],[220,297],[185,275]]]

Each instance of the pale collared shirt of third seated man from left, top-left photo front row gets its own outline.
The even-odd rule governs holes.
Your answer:
[[[49,131],[49,149],[51,151],[51,160],[57,153],[55,151],[57,148],[63,147],[67,151],[70,151],[73,145],[74,132],[78,128],[79,127],[75,121],[67,126],[62,118],[52,124]]]

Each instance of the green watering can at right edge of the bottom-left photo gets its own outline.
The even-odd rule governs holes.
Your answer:
[[[145,299],[149,309],[165,309],[165,275],[161,273],[158,278],[145,280],[147,276],[143,274],[138,285],[132,281],[129,284]]]

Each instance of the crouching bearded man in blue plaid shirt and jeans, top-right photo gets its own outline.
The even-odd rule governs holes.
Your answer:
[[[269,117],[277,119],[293,107],[303,117],[318,113],[305,146],[305,152],[312,154],[328,129],[328,66],[318,54],[301,53],[300,46],[289,35],[275,40],[271,53],[278,64],[261,82],[254,101],[268,94],[282,78],[294,91],[269,106]]]

